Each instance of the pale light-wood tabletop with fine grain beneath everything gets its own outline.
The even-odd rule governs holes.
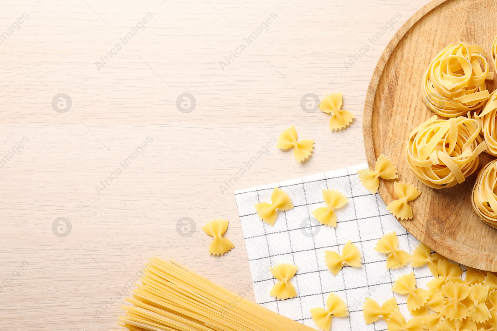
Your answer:
[[[371,74],[427,2],[1,1],[1,329],[115,329],[154,255],[253,299],[233,191],[365,162]],[[311,103],[301,107],[307,93],[334,91],[355,115],[342,132]],[[69,110],[53,104],[59,93]],[[183,112],[176,105],[183,93],[195,98],[190,113],[187,100]],[[273,146],[223,194],[289,124],[316,141],[310,160]],[[236,246],[220,258],[200,229],[215,218],[230,220]]]

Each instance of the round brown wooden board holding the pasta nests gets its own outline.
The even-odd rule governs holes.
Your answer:
[[[397,165],[398,180],[421,190],[421,195],[410,202],[413,220],[401,224],[443,256],[490,271],[497,271],[497,230],[473,211],[471,190],[477,173],[453,188],[431,189],[414,177],[404,151],[412,128],[434,115],[421,95],[422,75],[431,60],[457,41],[480,45],[490,54],[496,35],[496,0],[428,3],[400,28],[378,61],[366,94],[363,119],[369,167],[374,169],[381,153],[388,154]],[[495,70],[490,56],[488,61]],[[489,91],[493,91],[495,82],[487,82]],[[479,169],[492,159],[483,153]],[[381,181],[379,193],[387,204],[397,199],[393,181]]]

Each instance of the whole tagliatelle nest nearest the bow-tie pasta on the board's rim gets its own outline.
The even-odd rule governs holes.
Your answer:
[[[480,123],[466,117],[438,120],[433,116],[410,134],[406,160],[417,178],[434,189],[449,188],[466,180],[478,168]]]

